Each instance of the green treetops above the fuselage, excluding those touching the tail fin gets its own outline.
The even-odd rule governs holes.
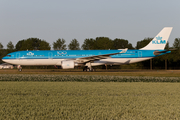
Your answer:
[[[58,39],[52,44],[54,50],[104,50],[104,49],[135,49],[128,40],[118,39],[111,40],[108,37],[97,37],[96,39],[85,39],[84,43],[80,47],[77,39],[73,39],[69,45],[66,45],[65,39]],[[0,49],[3,49],[3,45],[0,43]],[[20,40],[16,45],[10,41],[7,44],[7,50],[21,51],[21,50],[51,50],[51,45],[45,40],[39,38],[28,38]]]

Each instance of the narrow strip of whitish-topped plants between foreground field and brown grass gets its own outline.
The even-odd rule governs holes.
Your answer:
[[[180,82],[180,77],[1,74],[0,81]]]

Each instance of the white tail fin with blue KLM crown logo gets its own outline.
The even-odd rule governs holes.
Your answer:
[[[169,36],[171,34],[172,27],[165,27],[156,35],[156,37],[145,47],[141,48],[141,50],[164,50]]]

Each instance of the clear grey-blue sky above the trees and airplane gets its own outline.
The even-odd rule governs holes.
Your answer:
[[[0,0],[0,43],[39,38],[68,45],[77,39],[109,37],[137,41],[173,27],[170,46],[180,34],[180,0]]]

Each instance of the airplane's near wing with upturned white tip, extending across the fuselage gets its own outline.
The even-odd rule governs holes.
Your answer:
[[[128,50],[128,48],[122,49],[122,51],[121,51],[121,52],[118,52],[118,53],[94,55],[94,56],[90,56],[90,57],[78,58],[78,59],[76,59],[76,60],[94,61],[94,60],[106,59],[106,58],[110,58],[111,55],[126,53],[127,50]]]

